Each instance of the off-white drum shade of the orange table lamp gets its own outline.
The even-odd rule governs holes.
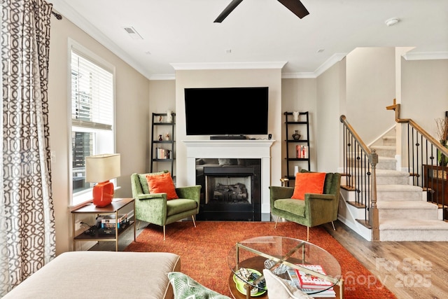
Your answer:
[[[120,176],[119,153],[85,157],[85,181],[100,183],[118,176]]]

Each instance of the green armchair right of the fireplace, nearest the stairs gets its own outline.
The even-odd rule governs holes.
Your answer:
[[[339,190],[341,174],[325,174],[323,194],[305,193],[304,200],[295,200],[291,197],[293,187],[270,186],[271,213],[276,216],[275,227],[279,217],[293,221],[307,227],[307,241],[309,241],[309,228],[323,223],[331,222],[333,230],[337,220],[339,205]]]

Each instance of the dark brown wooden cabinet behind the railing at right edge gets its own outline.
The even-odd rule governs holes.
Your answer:
[[[428,190],[428,201],[448,205],[448,167],[423,165],[423,187]]]

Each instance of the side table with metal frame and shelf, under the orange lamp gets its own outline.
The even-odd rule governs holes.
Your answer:
[[[76,251],[76,242],[78,241],[109,241],[116,242],[116,251],[118,251],[118,237],[125,232],[131,226],[134,227],[134,242],[136,239],[136,227],[135,227],[135,216],[132,216],[131,219],[128,219],[129,223],[123,229],[115,229],[115,234],[111,235],[102,235],[99,233],[99,230],[96,230],[94,234],[87,235],[85,233],[81,233],[80,235],[75,235],[75,223],[76,216],[80,214],[95,214],[95,215],[114,215],[116,219],[116,228],[118,228],[118,215],[120,214],[120,210],[128,205],[132,205],[132,211],[135,213],[135,202],[134,198],[114,198],[112,203],[106,207],[95,207],[94,204],[87,204],[78,209],[73,209],[71,211],[72,225],[73,225],[73,251]],[[134,214],[135,215],[135,214]]]

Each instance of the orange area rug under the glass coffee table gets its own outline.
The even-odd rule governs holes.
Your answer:
[[[181,256],[181,271],[200,284],[223,295],[230,295],[227,256],[236,242],[259,236],[283,236],[306,239],[307,228],[297,223],[240,221],[191,221],[167,225],[163,240],[162,227],[148,225],[125,251],[172,252]],[[339,261],[344,279],[344,298],[395,298],[381,281],[365,269],[349,251],[339,244],[325,228],[309,230],[309,242],[328,251]]]

